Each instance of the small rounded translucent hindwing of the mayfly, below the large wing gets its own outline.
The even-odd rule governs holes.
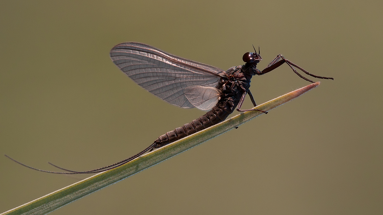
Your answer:
[[[221,90],[206,86],[189,86],[184,92],[189,102],[203,111],[212,109],[221,96]]]

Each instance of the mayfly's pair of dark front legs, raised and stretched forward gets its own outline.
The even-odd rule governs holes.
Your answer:
[[[282,58],[282,60],[278,61],[278,60],[281,59],[281,58]],[[302,72],[306,73],[307,75],[312,76],[312,77],[315,77],[315,78],[332,79],[332,80],[334,80],[334,78],[330,78],[330,77],[323,77],[323,76],[313,75],[313,74],[307,72],[306,70],[304,70],[302,67],[300,67],[300,66],[294,64],[294,63],[291,62],[290,60],[287,60],[287,59],[286,59],[285,57],[283,57],[283,55],[281,55],[281,54],[278,54],[277,57],[275,57],[274,60],[272,60],[272,61],[270,62],[270,64],[268,64],[268,66],[267,66],[264,70],[262,70],[261,72],[259,72],[258,74],[259,74],[259,75],[263,75],[263,74],[265,74],[265,73],[268,73],[268,72],[274,70],[275,68],[279,67],[279,66],[282,65],[283,63],[286,63],[287,65],[289,65],[290,68],[295,72],[295,74],[297,74],[299,77],[303,78],[303,79],[306,80],[306,81],[310,81],[310,82],[314,83],[314,81],[312,81],[312,80],[310,80],[310,79],[308,79],[308,78],[303,77],[300,73],[298,73],[298,72],[296,71],[296,69],[295,69],[294,67],[300,69]],[[294,66],[294,67],[293,67],[293,66]]]

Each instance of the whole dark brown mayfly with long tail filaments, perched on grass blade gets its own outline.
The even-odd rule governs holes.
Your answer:
[[[299,77],[306,81],[314,83],[314,81],[303,77],[294,67],[315,78],[334,80],[330,77],[313,75],[290,60],[285,59],[283,55],[277,55],[264,70],[260,71],[257,69],[257,64],[262,60],[259,48],[258,53],[254,48],[254,52],[247,52],[243,55],[244,65],[231,67],[226,72],[210,65],[168,54],[155,47],[138,42],[118,44],[111,49],[110,57],[120,70],[155,96],[181,108],[198,108],[208,112],[182,127],[161,135],[152,145],[140,153],[103,168],[89,171],[72,171],[49,163],[56,168],[67,171],[54,172],[33,168],[7,155],[5,156],[20,165],[48,173],[99,173],[121,166],[144,153],[222,122],[235,109],[240,112],[261,111],[267,114],[267,112],[259,109],[241,109],[246,94],[249,95],[254,107],[257,106],[249,90],[250,79],[253,75],[263,75],[282,64],[287,64]]]

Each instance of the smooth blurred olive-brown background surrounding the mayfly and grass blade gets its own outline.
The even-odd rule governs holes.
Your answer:
[[[0,154],[88,170],[203,114],[119,71],[109,50],[120,42],[223,70],[243,64],[254,44],[259,69],[283,54],[334,81],[51,214],[381,213],[382,8],[378,0],[2,1]],[[307,84],[283,65],[254,77],[250,90],[260,104]],[[0,174],[0,212],[87,177],[1,156]]]

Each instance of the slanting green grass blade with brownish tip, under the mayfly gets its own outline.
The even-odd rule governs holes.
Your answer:
[[[264,111],[270,111],[271,109],[276,108],[315,88],[319,85],[319,83],[320,82],[316,82],[298,90],[291,91],[290,93],[286,93],[283,96],[279,96],[278,98],[261,104],[256,108]],[[80,199],[85,195],[91,194],[101,188],[128,178],[133,174],[136,174],[146,168],[171,158],[172,156],[178,155],[183,151],[210,140],[211,138],[223,134],[224,132],[233,129],[244,122],[254,119],[261,114],[263,113],[259,111],[243,112],[217,125],[213,125],[193,135],[159,148],[158,150],[144,154],[123,166],[95,174],[89,178],[44,195],[43,197],[20,205],[19,207],[8,210],[2,214],[46,214],[52,212],[53,210]]]

